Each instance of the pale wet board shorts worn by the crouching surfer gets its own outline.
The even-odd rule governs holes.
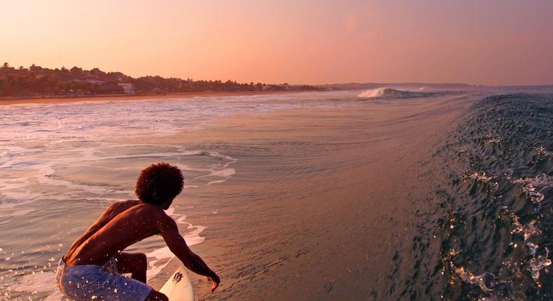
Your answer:
[[[56,271],[59,290],[72,300],[144,301],[152,288],[117,272],[115,260],[106,265],[65,265],[59,260]]]

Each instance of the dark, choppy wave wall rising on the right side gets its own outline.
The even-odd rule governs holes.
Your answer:
[[[435,212],[417,211],[398,296],[552,300],[553,94],[483,99],[433,157]]]

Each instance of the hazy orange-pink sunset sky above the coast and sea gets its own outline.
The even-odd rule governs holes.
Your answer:
[[[264,83],[553,84],[552,0],[8,1],[0,60]]]

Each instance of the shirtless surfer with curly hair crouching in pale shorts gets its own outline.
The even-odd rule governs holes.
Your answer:
[[[213,292],[219,276],[188,248],[164,211],[182,189],[183,175],[177,167],[158,163],[142,170],[135,189],[139,200],[111,204],[59,260],[59,290],[73,300],[168,300],[146,284],[146,255],[122,252],[146,237],[161,235],[183,265],[213,281]]]

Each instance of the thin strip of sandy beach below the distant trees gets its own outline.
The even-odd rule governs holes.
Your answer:
[[[129,101],[144,99],[179,99],[193,97],[218,97],[218,96],[241,96],[241,95],[268,95],[287,94],[297,92],[312,92],[311,90],[286,90],[286,91],[223,91],[223,92],[182,92],[167,94],[102,94],[86,95],[77,97],[10,97],[0,98],[1,105],[10,104],[62,104],[67,102],[105,102],[105,101]]]

